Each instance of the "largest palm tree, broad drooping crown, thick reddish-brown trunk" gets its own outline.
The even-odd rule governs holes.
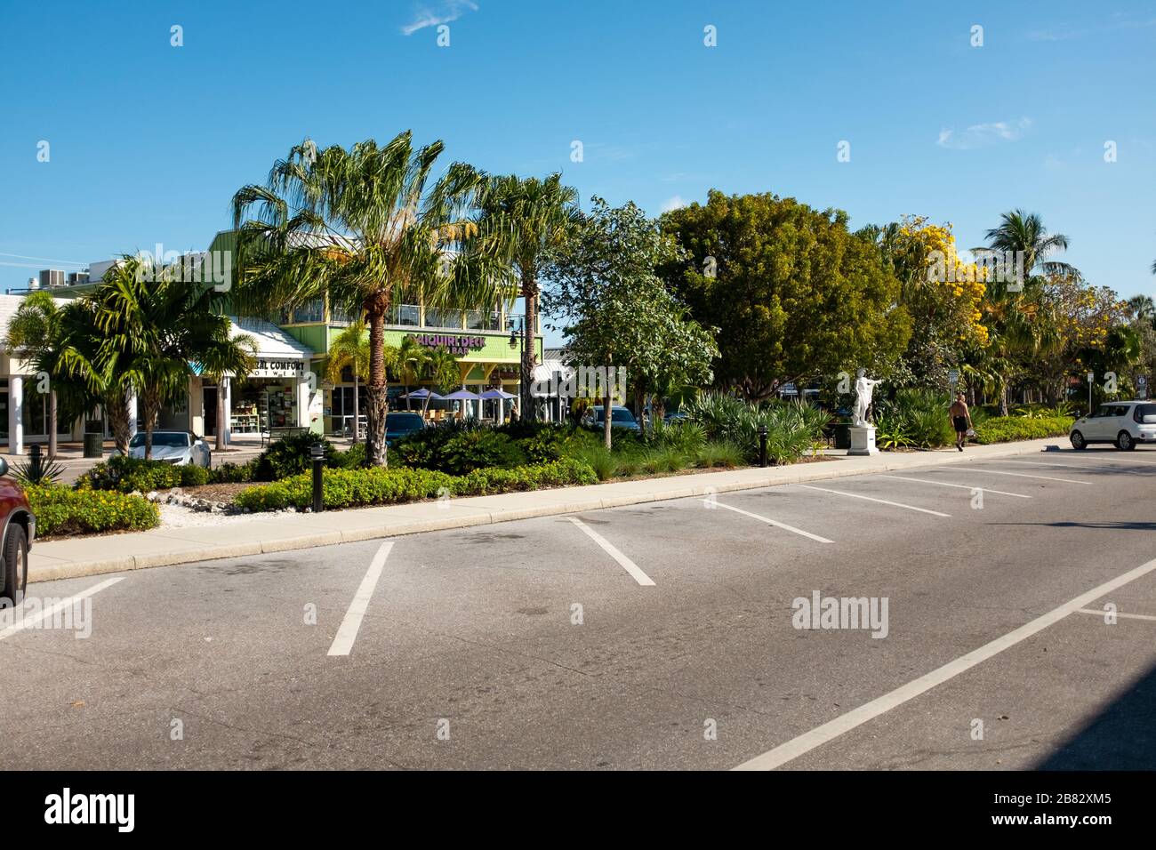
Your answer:
[[[266,185],[232,199],[237,303],[292,308],[327,294],[369,323],[366,457],[385,464],[388,411],[385,317],[399,297],[431,306],[494,303],[509,276],[497,243],[479,239],[470,205],[486,176],[453,163],[432,186],[440,141],[414,148],[409,131],[319,149],[306,139],[274,163]],[[250,217],[252,216],[252,217]]]

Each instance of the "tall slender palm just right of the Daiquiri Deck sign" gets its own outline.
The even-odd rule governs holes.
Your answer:
[[[539,274],[549,251],[564,244],[580,221],[578,193],[562,185],[562,175],[546,179],[514,175],[494,177],[479,199],[481,223],[487,232],[504,242],[519,295],[526,304],[523,325],[523,355],[519,380],[519,407],[523,416],[533,417],[534,331],[541,295]]]

